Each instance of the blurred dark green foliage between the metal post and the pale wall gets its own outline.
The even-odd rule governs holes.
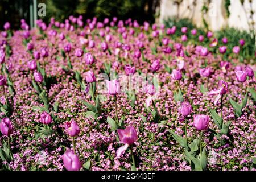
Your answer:
[[[51,17],[63,21],[69,15],[82,15],[84,19],[93,18],[103,20],[106,17],[117,16],[118,19],[137,19],[139,22],[147,20],[154,22],[155,9],[159,0],[41,0],[46,3],[46,18]]]

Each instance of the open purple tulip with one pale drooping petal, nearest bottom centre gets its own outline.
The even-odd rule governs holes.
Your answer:
[[[125,144],[124,146],[118,148],[117,150],[117,158],[119,158],[129,146],[131,146],[138,139],[137,131],[134,126],[128,126],[124,130],[117,130],[119,140]]]

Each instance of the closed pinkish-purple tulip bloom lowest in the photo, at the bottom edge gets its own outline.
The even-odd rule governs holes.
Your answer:
[[[82,167],[79,157],[70,149],[65,151],[63,155],[63,163],[68,171],[79,171]]]

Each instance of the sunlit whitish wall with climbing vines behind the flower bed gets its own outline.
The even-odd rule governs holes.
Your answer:
[[[174,2],[175,0],[161,0],[160,17],[157,20],[159,23],[163,23],[164,19],[179,16],[180,18],[191,18],[197,26],[203,26],[201,8],[207,0],[183,0],[180,4],[179,11],[178,6]],[[193,6],[193,2],[196,2],[196,6]],[[230,0],[229,18],[226,16],[224,4],[225,0],[212,0],[209,4],[209,11],[204,15],[209,28],[216,31],[229,26],[249,30],[247,23],[247,19],[250,20],[249,0],[245,0],[244,8],[240,0]],[[256,22],[256,0],[253,0],[251,7],[255,12],[253,20]],[[256,24],[254,24],[254,29],[256,30]]]

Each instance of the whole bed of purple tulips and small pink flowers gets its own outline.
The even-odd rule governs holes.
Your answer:
[[[5,24],[1,169],[255,170],[256,68],[236,57],[243,40],[225,55],[210,51],[214,34],[199,36],[209,47],[187,44],[197,31],[186,27],[85,22]]]

